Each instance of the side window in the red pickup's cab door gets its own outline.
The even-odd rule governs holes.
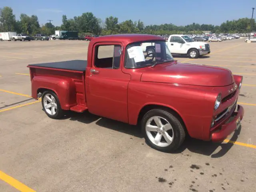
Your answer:
[[[121,46],[100,45],[95,48],[94,66],[96,68],[118,69],[120,67]]]

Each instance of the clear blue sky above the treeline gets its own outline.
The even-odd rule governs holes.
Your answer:
[[[3,6],[12,7],[16,19],[21,13],[36,14],[40,25],[51,19],[58,26],[62,23],[63,14],[73,18],[92,12],[102,20],[116,16],[119,22],[140,19],[145,25],[173,23],[180,26],[193,22],[220,25],[226,20],[250,18],[252,7],[256,8],[256,0],[3,0]]]

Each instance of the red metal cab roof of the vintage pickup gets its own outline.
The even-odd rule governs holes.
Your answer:
[[[164,38],[157,35],[148,35],[148,34],[116,34],[116,35],[106,35],[94,38],[91,42],[122,42],[125,44],[130,44],[132,42],[138,41],[147,41],[147,40],[162,40]]]

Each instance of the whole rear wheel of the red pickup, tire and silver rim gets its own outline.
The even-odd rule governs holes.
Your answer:
[[[42,94],[42,107],[46,115],[52,119],[64,116],[64,110],[60,107],[58,96],[53,91],[45,91]]]

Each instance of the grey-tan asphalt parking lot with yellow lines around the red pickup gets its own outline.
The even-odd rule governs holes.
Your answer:
[[[244,76],[242,126],[223,143],[188,139],[169,154],[146,145],[136,126],[88,112],[53,120],[30,97],[28,64],[86,60],[88,42],[1,42],[0,191],[254,192],[256,43],[209,44],[208,56],[175,58]]]

